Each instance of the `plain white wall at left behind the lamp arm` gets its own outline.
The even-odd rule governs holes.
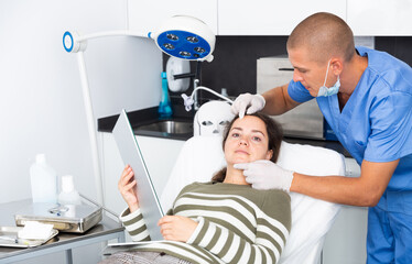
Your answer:
[[[0,0],[0,202],[31,197],[36,153],[96,198],[76,55],[62,36],[124,29],[127,0]],[[96,118],[159,103],[162,58],[151,40],[89,41],[85,57]]]

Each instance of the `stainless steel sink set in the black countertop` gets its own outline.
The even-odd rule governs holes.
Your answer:
[[[151,131],[167,134],[187,134],[193,132],[193,122],[162,120],[151,124],[143,124],[134,128],[134,132]]]

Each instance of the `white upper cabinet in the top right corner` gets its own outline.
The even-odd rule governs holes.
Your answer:
[[[347,23],[355,35],[412,35],[412,1],[347,0]]]

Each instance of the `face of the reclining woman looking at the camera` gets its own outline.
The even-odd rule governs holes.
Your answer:
[[[253,116],[237,119],[225,142],[225,158],[228,165],[270,160],[269,139],[264,122]]]

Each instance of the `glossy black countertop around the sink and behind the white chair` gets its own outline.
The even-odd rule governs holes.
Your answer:
[[[97,130],[99,132],[111,133],[111,131],[115,128],[118,117],[119,114],[98,119]],[[153,108],[147,108],[142,110],[128,112],[128,117],[129,117],[131,127],[135,129],[139,125],[151,124],[160,120],[193,122],[194,114],[187,113],[186,116],[174,116],[173,118],[161,119],[158,116],[158,107],[153,107]],[[167,133],[161,133],[161,132],[155,132],[155,131],[134,130],[134,133],[137,135],[154,136],[154,138],[171,139],[171,140],[182,140],[182,141],[186,141],[193,136],[193,132],[187,133],[187,134],[167,134]],[[314,146],[322,146],[325,148],[334,150],[343,154],[345,157],[351,157],[350,154],[345,150],[345,147],[338,141],[301,139],[301,138],[291,138],[291,136],[284,136],[284,141],[289,143],[295,143],[295,144],[308,144],[308,145],[314,145]]]

